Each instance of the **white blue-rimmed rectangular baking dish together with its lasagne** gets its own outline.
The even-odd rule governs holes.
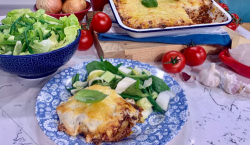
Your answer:
[[[157,0],[155,8],[143,6],[141,0],[109,2],[119,26],[134,38],[188,34],[194,29],[209,32],[232,21],[213,0]]]

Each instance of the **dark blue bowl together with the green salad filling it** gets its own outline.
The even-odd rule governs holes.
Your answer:
[[[0,69],[24,78],[48,76],[77,50],[77,17],[56,19],[40,9],[10,11],[0,25]]]

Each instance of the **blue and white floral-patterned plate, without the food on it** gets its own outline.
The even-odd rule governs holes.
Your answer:
[[[107,142],[115,145],[165,145],[179,133],[187,120],[188,103],[184,91],[180,85],[168,74],[146,63],[126,59],[107,59],[113,65],[123,63],[126,67],[139,67],[149,70],[152,75],[164,80],[177,95],[170,100],[168,111],[165,115],[152,113],[144,123],[138,123],[133,127],[133,134],[119,142]],[[62,101],[67,101],[70,93],[65,85],[71,83],[71,78],[76,73],[81,74],[82,80],[87,77],[86,65],[83,62],[67,68],[56,74],[42,88],[36,102],[36,116],[43,132],[58,145],[83,145],[87,144],[82,136],[72,137],[57,130],[58,116],[56,107]]]

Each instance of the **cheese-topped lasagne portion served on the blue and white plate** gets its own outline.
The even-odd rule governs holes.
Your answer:
[[[93,85],[86,89],[108,95],[104,100],[87,104],[69,97],[57,108],[60,131],[68,135],[83,134],[87,143],[100,144],[122,140],[129,136],[131,128],[141,122],[142,109],[125,101],[108,86]]]

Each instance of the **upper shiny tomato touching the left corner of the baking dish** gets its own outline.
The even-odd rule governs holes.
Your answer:
[[[91,27],[98,33],[106,33],[112,26],[110,17],[103,13],[96,13],[91,21]]]

